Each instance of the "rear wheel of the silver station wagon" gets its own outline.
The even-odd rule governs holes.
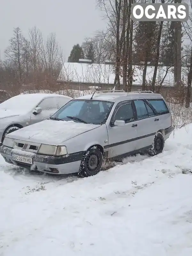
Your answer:
[[[150,156],[156,156],[163,152],[164,149],[164,136],[161,132],[157,132],[153,141],[153,145],[148,149]]]

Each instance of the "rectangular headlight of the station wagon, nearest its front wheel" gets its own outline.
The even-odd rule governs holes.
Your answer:
[[[38,153],[50,156],[64,156],[67,155],[67,148],[65,146],[57,147],[52,145],[41,144]]]

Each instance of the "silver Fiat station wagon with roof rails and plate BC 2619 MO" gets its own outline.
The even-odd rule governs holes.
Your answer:
[[[97,174],[104,158],[162,153],[173,131],[170,109],[150,91],[99,91],[70,100],[49,119],[7,134],[7,163],[39,172]]]

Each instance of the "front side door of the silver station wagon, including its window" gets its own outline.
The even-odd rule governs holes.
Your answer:
[[[116,120],[124,120],[124,126],[114,126]],[[132,101],[117,104],[108,125],[108,157],[126,156],[136,148],[137,122]]]

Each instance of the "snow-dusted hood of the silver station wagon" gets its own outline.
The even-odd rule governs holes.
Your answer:
[[[66,140],[99,126],[100,125],[82,124],[73,121],[56,121],[47,119],[12,132],[8,134],[7,137],[25,140],[28,142],[58,146],[62,145],[62,142]]]

